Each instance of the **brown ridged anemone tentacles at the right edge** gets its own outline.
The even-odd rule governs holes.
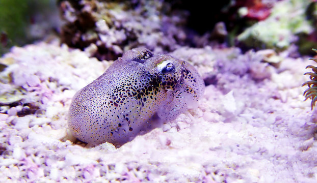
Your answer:
[[[317,53],[316,49],[312,49],[314,52]],[[311,60],[314,60],[317,63],[317,58],[309,58]],[[304,92],[305,100],[311,99],[311,110],[315,106],[315,103],[317,102],[317,67],[314,66],[307,66],[307,68],[312,69],[313,72],[307,72],[304,75],[309,75],[310,81],[304,82],[302,86],[307,85],[308,88]]]

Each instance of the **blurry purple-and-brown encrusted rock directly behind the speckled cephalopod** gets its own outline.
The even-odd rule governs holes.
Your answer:
[[[175,50],[186,40],[186,22],[164,1],[59,1],[66,24],[62,42],[94,47],[92,56],[116,59],[123,51],[145,46],[154,53]],[[183,13],[186,16],[186,13]]]

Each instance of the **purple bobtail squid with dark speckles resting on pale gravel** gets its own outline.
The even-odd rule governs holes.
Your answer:
[[[75,94],[68,127],[84,142],[122,145],[147,131],[153,116],[175,119],[203,90],[203,80],[187,62],[135,48]]]

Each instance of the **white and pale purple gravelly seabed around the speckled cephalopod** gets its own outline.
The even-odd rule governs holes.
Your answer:
[[[217,77],[199,106],[120,148],[89,147],[67,135],[68,107],[112,62],[88,51],[40,42],[0,59],[0,182],[317,182],[316,111],[301,87],[311,60],[179,48]]]

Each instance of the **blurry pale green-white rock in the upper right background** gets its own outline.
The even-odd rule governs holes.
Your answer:
[[[313,31],[305,14],[310,3],[309,0],[278,2],[266,20],[247,28],[237,39],[251,47],[285,49],[296,41],[295,35]]]

